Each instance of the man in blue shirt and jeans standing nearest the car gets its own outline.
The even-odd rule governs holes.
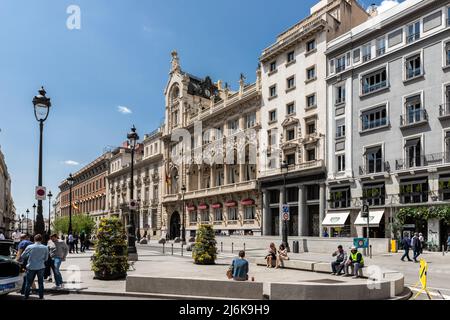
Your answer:
[[[39,299],[44,299],[44,271],[45,261],[48,258],[48,248],[42,244],[42,236],[40,234],[34,237],[34,244],[29,245],[25,249],[22,258],[28,259],[25,299],[28,299],[30,296],[31,284],[36,276],[38,277]]]

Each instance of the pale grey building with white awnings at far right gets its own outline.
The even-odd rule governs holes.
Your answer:
[[[450,1],[406,0],[328,43],[328,208],[335,236],[391,237],[405,208],[450,199]],[[447,226],[408,218],[439,244]]]

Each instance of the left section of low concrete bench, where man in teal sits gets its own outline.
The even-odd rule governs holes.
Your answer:
[[[263,283],[253,281],[196,278],[160,278],[132,275],[126,280],[126,292],[193,297],[263,299]]]

